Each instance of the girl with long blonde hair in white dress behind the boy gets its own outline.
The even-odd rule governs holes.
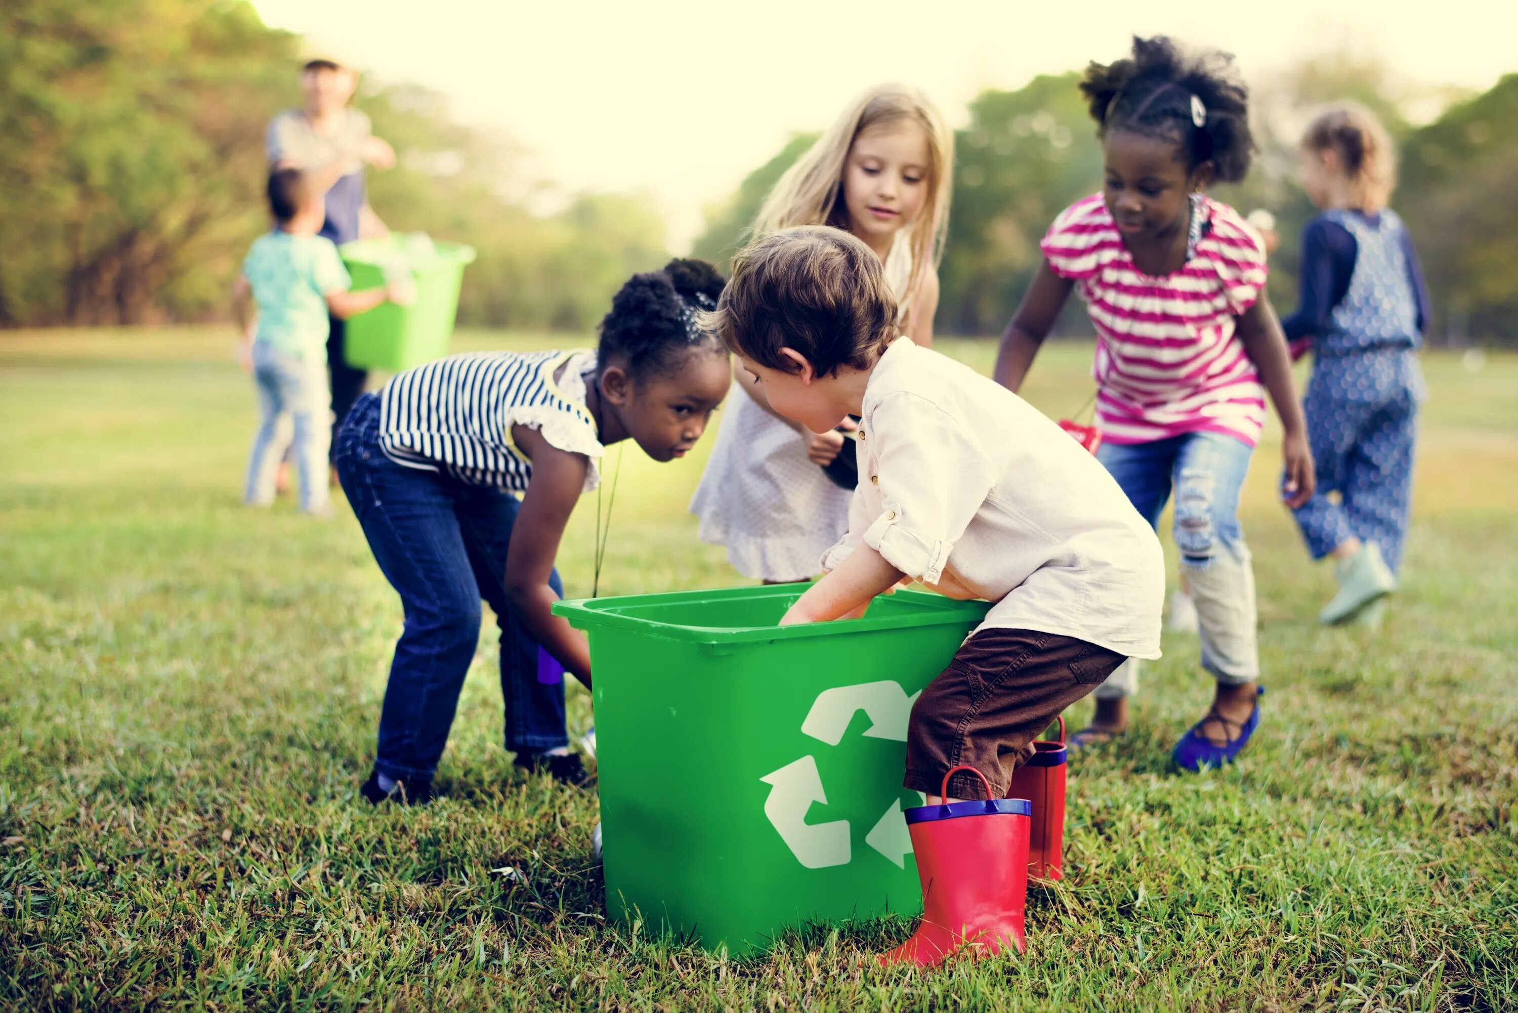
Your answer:
[[[780,178],[753,234],[795,225],[852,232],[885,266],[902,331],[932,345],[952,164],[953,134],[920,91],[870,88]],[[852,491],[823,471],[846,437],[812,433],[774,413],[750,384],[738,387],[744,393],[723,413],[691,512],[701,539],[726,545],[745,577],[806,580],[849,527]]]

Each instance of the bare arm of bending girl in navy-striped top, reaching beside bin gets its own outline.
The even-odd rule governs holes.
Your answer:
[[[533,639],[586,686],[591,685],[591,649],[584,635],[553,614],[559,595],[548,585],[569,513],[584,489],[589,463],[551,445],[537,430],[516,425],[512,439],[533,462],[533,481],[512,527],[505,553],[505,597],[521,614]]]

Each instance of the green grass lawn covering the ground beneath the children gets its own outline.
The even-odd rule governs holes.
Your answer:
[[[988,366],[987,345],[946,346]],[[1076,409],[1088,355],[1047,349],[1031,399]],[[1072,767],[1069,878],[1031,890],[1026,957],[918,975],[861,969],[900,922],[809,928],[748,963],[607,925],[595,796],[512,768],[489,635],[446,797],[355,802],[399,604],[346,509],[238,506],[254,396],[228,336],[3,334],[0,1004],[1510,1007],[1518,358],[1427,372],[1381,632],[1313,623],[1331,579],[1272,503],[1268,443],[1243,507],[1271,686],[1255,744],[1222,773],[1170,772],[1208,683],[1195,641],[1167,641],[1132,734]],[[694,457],[627,454],[603,591],[735,583],[685,512]],[[589,721],[583,693],[571,720]]]

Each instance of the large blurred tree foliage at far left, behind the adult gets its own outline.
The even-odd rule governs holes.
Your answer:
[[[12,0],[0,15],[0,322],[135,323],[225,299],[293,38],[246,5]],[[285,71],[287,73],[287,71]]]

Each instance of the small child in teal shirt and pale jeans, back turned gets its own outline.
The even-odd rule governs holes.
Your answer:
[[[296,169],[269,176],[269,208],[275,231],[260,235],[243,260],[232,289],[237,322],[247,352],[263,421],[254,436],[243,501],[267,506],[275,495],[279,419],[294,422],[294,460],[301,480],[301,512],[326,512],[326,448],[331,396],[326,389],[328,314],[346,319],[408,293],[398,286],[349,292],[352,279],[337,246],[317,235],[326,210]],[[258,305],[249,322],[249,296]]]

